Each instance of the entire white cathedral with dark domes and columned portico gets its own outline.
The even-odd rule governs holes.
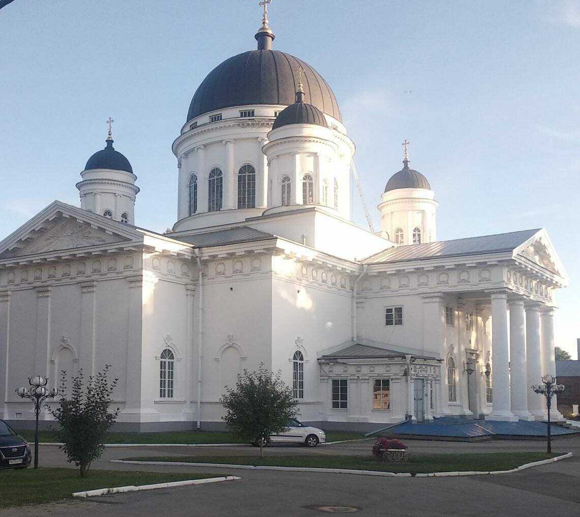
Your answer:
[[[555,373],[554,293],[569,281],[548,233],[438,241],[406,144],[380,232],[354,225],[355,146],[334,94],[272,49],[266,16],[255,37],[191,100],[171,231],[136,225],[137,176],[109,131],[81,207],[55,201],[1,241],[0,417],[34,418],[14,392],[28,376],[57,385],[111,364],[117,429],[219,429],[224,386],[264,363],[325,429],[546,418],[529,386]]]

